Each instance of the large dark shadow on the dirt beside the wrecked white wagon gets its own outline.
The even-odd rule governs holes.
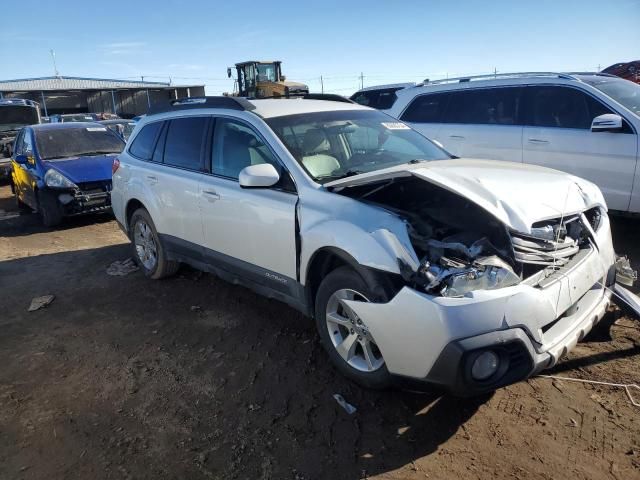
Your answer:
[[[31,399],[16,416],[0,416],[8,422],[0,421],[6,468],[56,457],[78,472],[106,459],[126,463],[136,478],[257,478],[272,458],[273,478],[292,470],[304,472],[301,478],[362,478],[464,435],[465,422],[490,398],[361,389],[330,366],[313,322],[286,305],[189,268],[163,281],[139,271],[105,273],[129,254],[122,244],[0,262],[11,279],[0,322],[0,384],[19,385],[16,395]],[[54,302],[27,313],[31,298],[45,294]],[[357,412],[348,415],[334,393]],[[5,400],[0,408],[11,412]],[[67,410],[74,429],[42,426],[58,429],[64,449],[49,434],[20,427],[42,411]],[[25,436],[26,451],[17,447]],[[149,450],[123,454],[121,442],[130,437],[148,439]],[[251,448],[255,462],[234,463],[239,449]],[[27,460],[28,452],[36,458]],[[194,456],[201,459],[194,463]]]

